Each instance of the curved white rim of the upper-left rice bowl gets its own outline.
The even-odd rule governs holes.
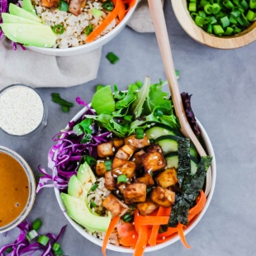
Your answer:
[[[135,0],[134,6],[130,8],[129,12],[126,13],[126,16],[111,31],[109,31],[104,36],[101,36],[100,38],[98,38],[96,40],[93,40],[90,43],[87,43],[87,44],[84,44],[84,45],[78,45],[78,46],[74,46],[74,47],[70,47],[70,48],[44,48],[44,47],[37,47],[37,46],[29,46],[27,48],[30,49],[30,50],[38,49],[38,50],[41,50],[41,51],[47,51],[49,53],[50,52],[54,53],[56,50],[58,51],[58,53],[67,53],[67,52],[72,53],[73,51],[83,50],[83,49],[86,49],[86,48],[92,48],[92,50],[95,50],[96,48],[100,47],[101,45],[104,45],[104,41],[108,37],[113,36],[113,34],[115,34],[123,26],[126,25],[126,22],[129,21],[130,17],[135,12],[135,8],[137,7],[137,5],[140,1],[141,0]],[[97,45],[99,45],[99,46],[97,47]]]

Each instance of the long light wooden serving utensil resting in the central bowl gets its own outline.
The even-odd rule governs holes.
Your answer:
[[[201,146],[200,142],[197,140],[197,136],[192,131],[191,126],[187,121],[187,116],[184,111],[182,97],[178,88],[178,82],[175,74],[173,56],[170,48],[170,43],[168,40],[168,32],[164,19],[164,10],[161,0],[148,0],[149,9],[154,22],[155,34],[159,43],[159,50],[164,63],[164,70],[166,78],[168,81],[168,86],[171,91],[173,106],[175,109],[176,116],[181,125],[181,131],[183,135],[192,140],[192,143],[196,146],[198,154],[201,156],[206,155],[205,149]],[[206,196],[211,191],[211,167],[208,169],[206,174]]]

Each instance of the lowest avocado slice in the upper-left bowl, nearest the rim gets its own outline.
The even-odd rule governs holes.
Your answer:
[[[1,27],[7,38],[25,46],[52,47],[57,39],[46,25],[2,23]]]

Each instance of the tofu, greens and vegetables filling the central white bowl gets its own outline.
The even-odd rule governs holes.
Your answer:
[[[165,83],[160,80],[150,84],[146,77],[145,83],[131,83],[125,92],[116,85],[114,92],[109,85],[99,86],[91,106],[78,97],[84,113],[55,136],[58,143],[48,157],[52,175],[40,168],[44,177],[40,178],[37,192],[42,187],[58,187],[73,220],[87,230],[107,232],[103,254],[120,221],[120,243],[134,248],[135,255],[142,255],[146,244],[154,246],[177,234],[188,247],[183,228],[206,204],[203,186],[211,157],[200,158],[190,140],[181,134],[172,99],[162,89]],[[184,107],[192,128],[200,135],[190,97],[183,93]],[[87,195],[97,188],[97,178],[104,176],[111,194],[102,203],[108,215],[99,216],[92,211]],[[123,192],[119,185],[124,185]],[[136,196],[132,191],[137,192]],[[164,197],[160,197],[163,193]],[[113,209],[115,204],[121,211]],[[77,211],[74,208],[78,205]],[[81,212],[92,222],[81,218]],[[98,220],[106,226],[104,230],[92,225]],[[130,235],[138,239],[130,240]]]

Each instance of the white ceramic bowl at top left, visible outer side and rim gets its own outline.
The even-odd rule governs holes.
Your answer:
[[[123,28],[126,26],[126,23],[130,20],[133,12],[135,12],[135,8],[140,2],[140,0],[136,0],[135,5],[130,8],[129,12],[126,13],[126,16],[122,19],[122,21],[109,33],[102,36],[101,38],[92,41],[86,45],[80,45],[72,48],[67,49],[55,49],[55,48],[42,48],[36,46],[28,47],[30,50],[36,51],[43,55],[52,55],[52,56],[74,56],[74,55],[83,55],[89,51],[96,50],[102,45],[107,44],[110,40],[112,40],[115,36],[117,36]]]

